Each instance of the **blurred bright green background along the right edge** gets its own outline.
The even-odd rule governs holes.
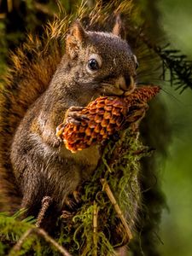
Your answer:
[[[192,59],[192,2],[161,0],[160,24],[173,47]],[[172,145],[162,171],[163,190],[169,211],[164,211],[160,238],[162,255],[192,255],[192,91],[182,95],[170,89],[164,94],[172,123]]]

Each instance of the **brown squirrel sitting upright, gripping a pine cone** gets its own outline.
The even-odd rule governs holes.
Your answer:
[[[1,114],[2,209],[7,204],[13,211],[20,206],[26,209],[27,216],[37,217],[44,196],[50,196],[54,211],[59,214],[67,196],[89,180],[100,160],[100,148],[94,145],[73,154],[55,136],[55,129],[64,115],[74,122],[84,119],[79,109],[97,96],[119,96],[134,89],[137,57],[120,37],[121,31],[119,16],[112,32],[85,30],[76,20],[67,33],[65,54],[53,67],[55,73],[49,84],[42,85],[40,80],[39,84],[36,80],[34,84],[27,84],[27,80],[20,84],[18,79],[12,88],[3,90],[0,101],[7,109],[2,108]],[[59,59],[58,55],[55,52],[52,60]],[[17,65],[22,80],[25,69],[19,61]],[[37,71],[39,68],[39,73],[42,69],[49,77],[46,67],[32,67]],[[15,88],[14,95],[10,90]],[[3,147],[7,148],[3,151]]]

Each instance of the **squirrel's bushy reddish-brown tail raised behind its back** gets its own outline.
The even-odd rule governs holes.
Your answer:
[[[15,185],[10,148],[15,130],[26,109],[46,90],[61,60],[60,35],[47,26],[44,38],[28,36],[26,43],[11,54],[11,67],[0,91],[0,211],[15,212],[20,207],[20,191]],[[56,39],[56,40],[55,40]]]

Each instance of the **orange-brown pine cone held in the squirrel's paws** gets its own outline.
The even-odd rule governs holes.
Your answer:
[[[83,108],[80,114],[80,124],[64,121],[57,127],[57,137],[60,137],[67,149],[75,153],[108,139],[122,126],[143,118],[147,102],[160,91],[159,86],[143,86],[131,94],[120,96],[101,96]]]

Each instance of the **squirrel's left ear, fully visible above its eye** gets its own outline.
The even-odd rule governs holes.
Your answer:
[[[70,32],[67,35],[66,39],[66,50],[67,53],[74,59],[81,48],[84,40],[86,38],[86,32],[84,31],[83,26],[79,20],[73,22],[73,25],[70,27]]]

